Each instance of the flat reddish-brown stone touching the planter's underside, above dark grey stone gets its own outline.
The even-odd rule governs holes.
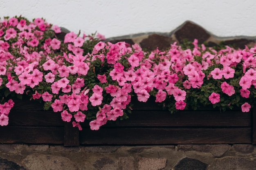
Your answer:
[[[190,151],[195,150],[198,152],[210,152],[213,157],[221,157],[230,146],[228,144],[213,144],[213,145],[178,145],[178,150]]]

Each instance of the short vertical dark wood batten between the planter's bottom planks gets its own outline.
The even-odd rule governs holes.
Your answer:
[[[79,129],[71,122],[64,124],[64,146],[79,146]]]

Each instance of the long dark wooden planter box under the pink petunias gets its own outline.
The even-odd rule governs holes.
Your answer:
[[[100,130],[83,130],[63,122],[60,113],[44,111],[36,101],[20,101],[9,113],[9,125],[0,127],[1,143],[63,144],[256,144],[256,109],[183,110],[170,114],[154,101],[135,103],[130,119]]]

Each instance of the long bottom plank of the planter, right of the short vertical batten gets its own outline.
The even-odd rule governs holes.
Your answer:
[[[251,144],[252,128],[84,129],[80,144]]]

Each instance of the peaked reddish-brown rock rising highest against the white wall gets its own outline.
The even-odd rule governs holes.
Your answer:
[[[180,29],[175,31],[174,34],[179,42],[184,39],[193,42],[194,39],[197,39],[199,44],[207,41],[207,39],[211,36],[201,26],[194,24],[191,21],[185,22]]]

